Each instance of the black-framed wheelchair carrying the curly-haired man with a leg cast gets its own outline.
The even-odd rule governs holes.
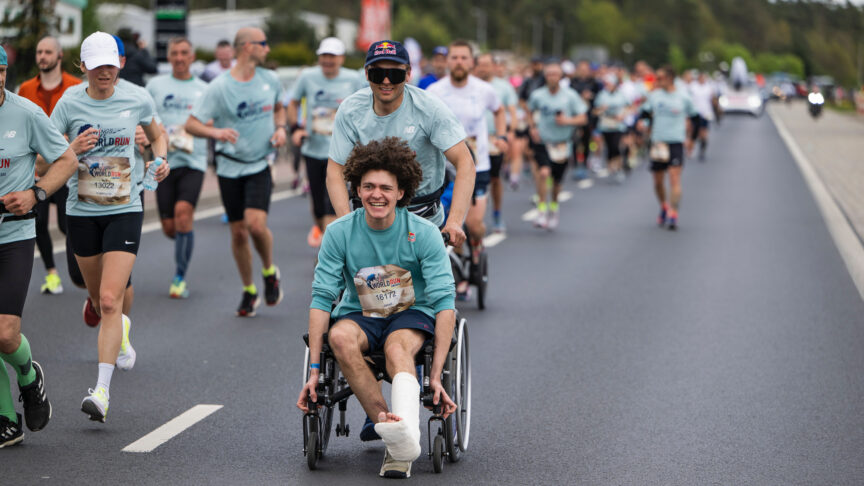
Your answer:
[[[309,379],[309,334],[305,334],[303,340],[306,342],[303,383],[306,383]],[[442,417],[440,403],[439,405],[432,403],[434,395],[429,386],[429,373],[432,369],[433,353],[434,344],[431,342],[424,344],[415,357],[415,364],[423,368],[418,399],[425,407],[432,408],[432,416],[426,423],[427,456],[432,460],[433,470],[440,473],[444,468],[445,458],[449,462],[458,462],[468,449],[471,431],[471,357],[468,348],[468,326],[467,321],[459,316],[458,311],[450,350],[441,377],[441,384],[456,403],[456,412],[446,419]],[[367,353],[366,361],[377,380],[390,382],[383,350]],[[309,412],[303,415],[303,454],[306,456],[306,465],[310,470],[317,468],[318,461],[327,452],[336,407],[339,409],[338,423],[335,427],[336,436],[348,437],[350,434],[350,427],[345,421],[345,412],[348,399],[354,394],[339,369],[339,363],[328,344],[327,334],[324,335],[319,363],[321,369],[316,388],[318,401],[313,402],[307,396]],[[321,408],[318,408],[319,406]]]

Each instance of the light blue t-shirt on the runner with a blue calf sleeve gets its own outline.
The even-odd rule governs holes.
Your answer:
[[[147,83],[147,91],[156,102],[156,111],[168,133],[168,164],[172,169],[189,167],[202,172],[207,169],[207,141],[189,135],[184,128],[206,89],[207,83],[195,76],[183,80],[165,74]]]

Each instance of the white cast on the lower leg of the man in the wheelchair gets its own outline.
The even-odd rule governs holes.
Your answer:
[[[420,384],[410,373],[393,377],[390,401],[392,412],[402,420],[375,424],[375,432],[397,461],[413,461],[420,456]]]

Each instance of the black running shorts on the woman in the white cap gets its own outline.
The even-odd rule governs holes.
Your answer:
[[[138,254],[144,213],[121,213],[105,216],[68,216],[68,236],[72,251],[90,257],[109,251]]]

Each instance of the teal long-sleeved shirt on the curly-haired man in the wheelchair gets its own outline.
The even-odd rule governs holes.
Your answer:
[[[327,226],[310,307],[330,312],[343,289],[335,317],[410,308],[434,319],[438,312],[455,309],[456,287],[441,232],[405,208],[396,208],[396,219],[386,230],[370,228],[363,208]]]

